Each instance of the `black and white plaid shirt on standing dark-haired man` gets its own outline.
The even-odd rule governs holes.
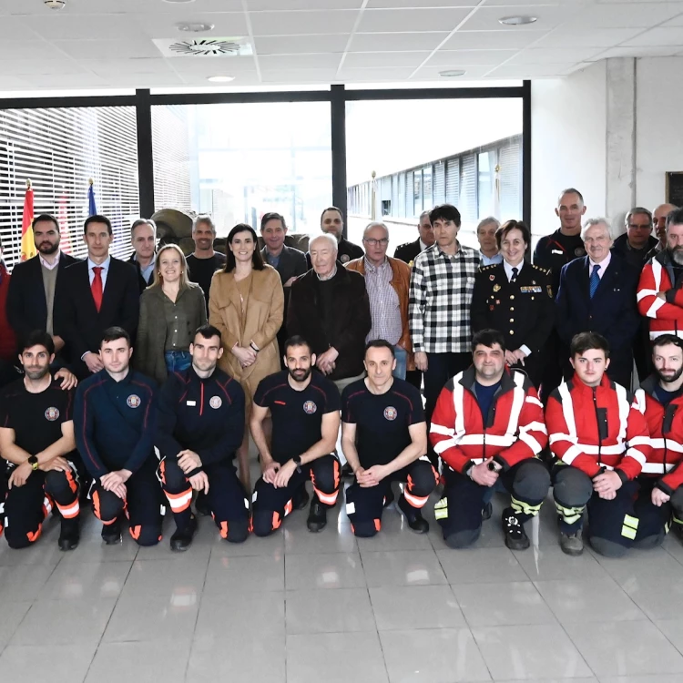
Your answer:
[[[408,317],[414,352],[466,353],[479,252],[458,243],[454,256],[438,244],[415,257]]]

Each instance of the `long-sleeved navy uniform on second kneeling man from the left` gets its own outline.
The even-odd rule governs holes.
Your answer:
[[[154,382],[129,370],[120,382],[101,370],[76,391],[74,410],[76,445],[94,482],[93,510],[105,525],[126,513],[130,535],[139,545],[161,540],[163,495],[154,454],[157,431],[157,396]],[[117,470],[132,472],[127,497],[106,491],[100,477]]]

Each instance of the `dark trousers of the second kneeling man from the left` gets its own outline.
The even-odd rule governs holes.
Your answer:
[[[93,512],[105,525],[126,514],[130,535],[138,545],[157,545],[161,540],[161,509],[164,494],[157,478],[157,460],[148,458],[126,482],[126,500],[105,491],[99,481],[90,489]]]

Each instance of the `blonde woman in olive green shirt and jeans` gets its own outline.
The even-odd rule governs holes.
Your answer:
[[[154,281],[140,297],[140,321],[135,346],[139,372],[166,381],[168,372],[189,368],[189,344],[207,322],[201,287],[188,280],[185,254],[176,244],[158,250]]]

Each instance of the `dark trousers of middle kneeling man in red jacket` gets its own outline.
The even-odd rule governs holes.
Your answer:
[[[579,532],[587,509],[588,540],[601,555],[618,557],[631,546],[653,547],[667,534],[671,504],[652,505],[654,477],[641,477],[622,484],[612,500],[596,494],[591,478],[571,465],[556,465],[553,481],[560,531],[565,534]],[[682,502],[680,494],[677,500]]]

